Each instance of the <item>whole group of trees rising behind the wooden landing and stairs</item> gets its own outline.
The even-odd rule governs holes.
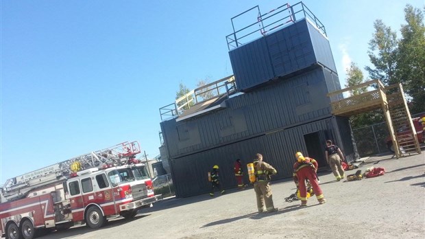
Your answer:
[[[347,69],[347,84],[352,87],[370,79],[380,80],[385,85],[401,83],[412,114],[425,112],[425,26],[424,9],[413,8],[407,4],[404,8],[404,20],[401,25],[401,37],[391,27],[377,19],[374,21],[374,34],[369,41],[367,54],[372,63],[365,70],[369,77],[352,62]],[[366,88],[358,89],[352,94],[360,94]],[[364,113],[350,118],[352,128],[358,128],[383,122],[379,112]]]

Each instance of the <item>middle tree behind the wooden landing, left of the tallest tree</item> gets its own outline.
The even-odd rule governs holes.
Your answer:
[[[387,27],[382,20],[374,22],[375,32],[369,41],[369,60],[374,65],[365,67],[372,80],[381,80],[384,84],[394,84],[396,80],[398,40],[396,32]]]

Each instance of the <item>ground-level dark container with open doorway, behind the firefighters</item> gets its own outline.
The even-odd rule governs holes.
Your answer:
[[[347,134],[338,129],[340,124],[346,123],[346,118],[328,117],[324,120],[171,159],[176,195],[186,197],[209,192],[208,172],[216,164],[220,167],[220,179],[223,187],[236,187],[233,172],[234,161],[241,159],[244,170],[247,172],[246,164],[253,161],[256,152],[263,154],[264,161],[270,163],[278,171],[274,180],[292,176],[295,152],[298,151],[303,152],[304,156],[317,159],[319,170],[326,168],[324,159],[326,139],[334,139],[335,143],[341,146],[348,161],[352,161],[354,150],[350,133]],[[244,181],[248,182],[246,173]]]

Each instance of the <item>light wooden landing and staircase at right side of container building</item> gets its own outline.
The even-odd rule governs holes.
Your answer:
[[[364,87],[373,90],[344,98],[343,93],[351,93]],[[421,153],[401,84],[384,87],[380,80],[371,80],[354,87],[333,91],[328,93],[328,97],[334,115],[350,117],[359,113],[383,109],[396,157]]]

